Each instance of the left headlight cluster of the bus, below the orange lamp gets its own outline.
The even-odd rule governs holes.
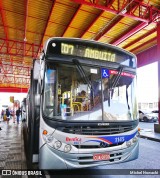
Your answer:
[[[64,152],[69,152],[72,149],[72,146],[69,144],[62,143],[59,140],[56,140],[52,134],[43,134],[43,138],[46,141],[48,145],[51,147],[55,148],[56,150],[64,151]]]

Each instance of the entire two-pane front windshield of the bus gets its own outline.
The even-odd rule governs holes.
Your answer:
[[[136,77],[107,67],[72,63],[46,64],[43,114],[67,121],[137,119]]]

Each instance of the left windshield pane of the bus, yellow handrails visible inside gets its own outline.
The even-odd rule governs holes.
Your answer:
[[[84,76],[76,65],[58,64],[56,84],[56,78],[53,78],[56,70],[52,69],[56,65],[53,66],[48,64],[45,74],[44,113],[46,116],[67,120],[100,119],[102,115],[100,70],[83,66]],[[56,88],[59,92],[57,99]],[[91,111],[94,111],[94,114]]]

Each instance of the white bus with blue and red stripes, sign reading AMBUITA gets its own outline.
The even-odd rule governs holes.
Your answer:
[[[31,72],[27,158],[75,169],[138,158],[136,57],[118,47],[50,38]]]

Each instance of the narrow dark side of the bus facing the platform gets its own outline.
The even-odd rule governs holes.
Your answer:
[[[38,93],[38,79],[31,72],[29,106],[28,106],[28,165],[38,162],[39,154],[39,123],[40,123],[40,94]]]

